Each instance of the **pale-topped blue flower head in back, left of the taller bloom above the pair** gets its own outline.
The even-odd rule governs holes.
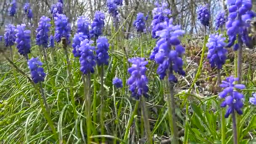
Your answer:
[[[90,26],[90,21],[88,20],[87,17],[79,16],[77,18],[77,33],[82,32],[87,39],[90,38],[89,26]]]

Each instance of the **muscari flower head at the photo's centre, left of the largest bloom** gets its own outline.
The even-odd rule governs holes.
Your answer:
[[[137,100],[139,100],[141,96],[147,97],[149,88],[147,86],[147,68],[145,66],[148,64],[148,61],[145,61],[145,58],[132,58],[128,59],[128,61],[132,63],[131,67],[128,69],[131,77],[129,77],[127,81],[129,90],[132,93],[131,96]]]

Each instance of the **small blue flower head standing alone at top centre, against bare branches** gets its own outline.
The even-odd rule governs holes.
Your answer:
[[[137,13],[137,17],[133,22],[133,27],[136,27],[137,32],[146,32],[144,13]]]

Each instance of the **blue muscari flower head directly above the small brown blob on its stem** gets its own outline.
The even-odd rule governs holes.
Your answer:
[[[70,43],[69,37],[71,33],[71,27],[68,23],[68,19],[64,14],[58,14],[54,17],[55,24],[55,33],[54,39],[57,43],[61,41],[61,38],[64,37],[67,39],[68,44]]]

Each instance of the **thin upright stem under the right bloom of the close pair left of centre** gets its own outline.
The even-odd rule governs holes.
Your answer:
[[[101,66],[101,135],[104,135],[104,66]],[[102,139],[104,142],[104,137]]]

